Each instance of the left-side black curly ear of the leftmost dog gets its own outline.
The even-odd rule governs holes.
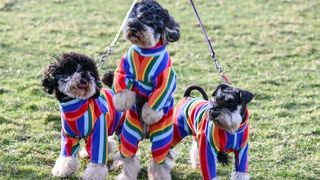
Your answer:
[[[53,74],[56,69],[57,69],[57,64],[56,63],[52,63],[43,72],[41,85],[43,87],[43,90],[48,94],[52,94],[54,92],[55,88],[58,86],[58,81],[54,77],[54,74]]]

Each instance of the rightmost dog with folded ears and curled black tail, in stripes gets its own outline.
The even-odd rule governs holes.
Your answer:
[[[191,97],[193,90],[198,90],[204,100]],[[204,180],[216,179],[217,160],[227,164],[229,152],[235,154],[235,172],[231,173],[231,179],[249,179],[247,104],[253,97],[249,91],[221,84],[208,100],[200,86],[192,85],[176,105],[172,148],[192,135],[192,167],[200,166]]]

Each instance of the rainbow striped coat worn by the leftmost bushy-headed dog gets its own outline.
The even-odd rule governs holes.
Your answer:
[[[92,163],[106,163],[108,136],[119,133],[124,113],[116,111],[112,90],[101,89],[96,99],[74,99],[60,103],[61,156],[76,156],[80,139],[86,141],[86,150]]]

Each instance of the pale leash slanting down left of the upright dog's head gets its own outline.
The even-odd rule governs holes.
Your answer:
[[[99,62],[97,62],[97,66],[100,67],[110,56],[111,52],[113,51],[113,49],[116,47],[117,42],[119,41],[121,32],[125,26],[125,24],[127,23],[127,20],[129,18],[129,15],[134,7],[134,5],[137,3],[138,0],[134,0],[130,6],[130,9],[127,12],[126,17],[123,19],[122,24],[117,32],[117,34],[114,36],[109,48],[101,55],[100,59],[98,60]]]

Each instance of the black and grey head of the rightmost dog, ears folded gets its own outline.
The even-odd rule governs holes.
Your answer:
[[[209,119],[234,134],[244,120],[245,108],[254,95],[246,90],[221,84],[212,94]]]

